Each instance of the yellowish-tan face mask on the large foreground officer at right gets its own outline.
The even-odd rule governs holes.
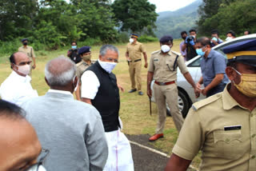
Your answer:
[[[235,71],[241,76],[241,82],[238,85],[234,83],[234,86],[246,96],[256,97],[256,74],[241,74]]]

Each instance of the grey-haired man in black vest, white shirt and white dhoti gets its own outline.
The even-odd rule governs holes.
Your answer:
[[[119,129],[120,98],[117,79],[112,73],[117,63],[118,49],[111,45],[102,46],[98,61],[82,74],[82,101],[94,105],[102,116],[109,148],[104,170],[132,171],[130,142]]]

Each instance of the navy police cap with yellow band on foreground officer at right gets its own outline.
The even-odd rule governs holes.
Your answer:
[[[228,62],[242,62],[256,67],[256,39],[234,43],[223,48]]]

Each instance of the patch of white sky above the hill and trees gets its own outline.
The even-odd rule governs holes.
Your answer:
[[[156,12],[163,11],[174,11],[178,10],[184,6],[189,5],[195,0],[149,0],[150,3],[157,6]]]

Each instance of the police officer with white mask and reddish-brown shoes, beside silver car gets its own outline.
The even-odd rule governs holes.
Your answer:
[[[158,126],[154,136],[150,141],[156,141],[163,137],[163,129],[166,122],[166,103],[170,108],[170,113],[174,119],[176,129],[180,131],[183,124],[182,113],[178,109],[178,89],[176,84],[177,67],[181,70],[187,82],[194,87],[194,92],[198,94],[196,85],[188,72],[184,59],[181,55],[171,51],[173,38],[163,36],[160,39],[161,50],[151,54],[150,66],[147,73],[147,95],[152,96],[150,83],[154,78],[154,97],[158,105]]]

